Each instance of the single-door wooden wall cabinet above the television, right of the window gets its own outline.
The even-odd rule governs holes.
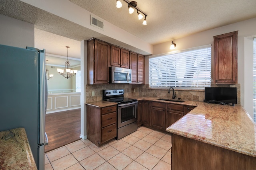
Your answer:
[[[214,83],[237,84],[238,31],[214,36]]]

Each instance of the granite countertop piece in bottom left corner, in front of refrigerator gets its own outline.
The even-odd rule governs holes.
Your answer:
[[[0,132],[0,169],[37,170],[24,128]]]

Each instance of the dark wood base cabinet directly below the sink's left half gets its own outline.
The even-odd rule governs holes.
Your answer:
[[[150,126],[165,130],[165,103],[152,102],[151,115],[150,115]]]

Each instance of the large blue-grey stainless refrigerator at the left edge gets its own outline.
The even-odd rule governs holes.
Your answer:
[[[45,50],[0,45],[0,75],[0,131],[24,127],[36,166],[44,170]]]

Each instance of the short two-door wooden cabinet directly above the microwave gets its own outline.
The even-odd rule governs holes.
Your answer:
[[[130,54],[126,49],[120,49],[116,46],[111,46],[111,66],[118,66],[123,68],[130,67]]]

